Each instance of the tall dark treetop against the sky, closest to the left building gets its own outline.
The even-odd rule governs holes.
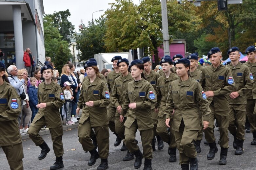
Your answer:
[[[58,28],[62,40],[70,42],[69,36],[73,35],[75,32],[75,27],[69,22],[69,17],[71,16],[69,9],[65,11],[54,11],[53,14],[48,14],[53,20],[53,26]]]

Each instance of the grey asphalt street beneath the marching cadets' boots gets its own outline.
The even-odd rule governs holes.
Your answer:
[[[6,129],[7,130],[7,129]],[[219,140],[219,132],[215,131],[216,139]],[[24,149],[24,169],[31,170],[46,170],[54,163],[55,156],[52,149],[52,142],[50,135],[43,136],[46,143],[49,145],[51,151],[48,153],[47,157],[43,160],[38,160],[38,155],[41,151],[39,146],[35,146],[30,139],[23,140],[23,149]],[[231,139],[229,141],[230,149],[228,150],[227,155],[227,165],[219,165],[220,158],[220,147],[218,145],[219,151],[216,153],[216,157],[209,161],[206,159],[209,146],[201,144],[202,152],[198,154],[199,159],[199,169],[200,170],[256,170],[256,146],[250,145],[252,140],[252,133],[246,133],[246,141],[244,143],[244,154],[243,155],[234,155],[235,149],[232,147],[233,136],[229,135]],[[142,150],[142,144],[139,132],[136,134],[136,139],[139,141],[139,147]],[[134,169],[132,161],[123,161],[123,157],[126,155],[127,151],[120,151],[122,143],[118,147],[114,147],[115,136],[113,133],[110,133],[110,149],[108,157],[108,166],[109,170],[130,170]],[[203,140],[204,141],[204,140]],[[202,143],[203,143],[202,141]],[[63,136],[63,145],[64,145],[64,168],[62,169],[72,169],[72,170],[96,170],[97,166],[100,164],[100,159],[97,162],[89,167],[87,165],[90,158],[89,152],[85,152],[82,149],[82,145],[78,142],[77,137],[77,128],[72,130],[64,131]],[[73,150],[75,149],[75,150]],[[177,159],[179,152],[177,150]],[[3,150],[0,149],[0,160],[1,168],[3,170],[9,169],[8,162],[6,160]],[[139,170],[142,170],[144,167],[143,164]],[[170,163],[169,155],[167,154],[167,144],[165,143],[164,149],[153,152],[152,168],[155,170],[163,169],[181,169],[178,162]]]

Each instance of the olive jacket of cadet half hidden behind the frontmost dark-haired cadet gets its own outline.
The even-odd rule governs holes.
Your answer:
[[[157,107],[159,107],[158,116],[163,117],[166,110],[167,94],[170,90],[171,82],[179,79],[174,73],[171,73],[168,78],[165,75],[161,76],[157,80],[156,95],[157,95]]]

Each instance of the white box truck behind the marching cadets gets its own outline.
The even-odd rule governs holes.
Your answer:
[[[132,61],[131,53],[99,53],[94,54],[94,59],[97,60],[98,68],[101,71],[102,69],[111,69],[112,70],[112,62],[111,59],[115,56],[121,56],[122,58],[126,58],[129,62]]]

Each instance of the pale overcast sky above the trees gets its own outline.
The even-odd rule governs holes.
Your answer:
[[[115,0],[43,0],[45,14],[53,14],[54,11],[63,11],[69,9],[71,16],[69,21],[74,25],[76,32],[79,32],[79,25],[81,20],[85,26],[88,21],[98,19],[104,12],[110,8],[109,3],[113,3]],[[139,4],[140,0],[133,0],[134,4]]]

